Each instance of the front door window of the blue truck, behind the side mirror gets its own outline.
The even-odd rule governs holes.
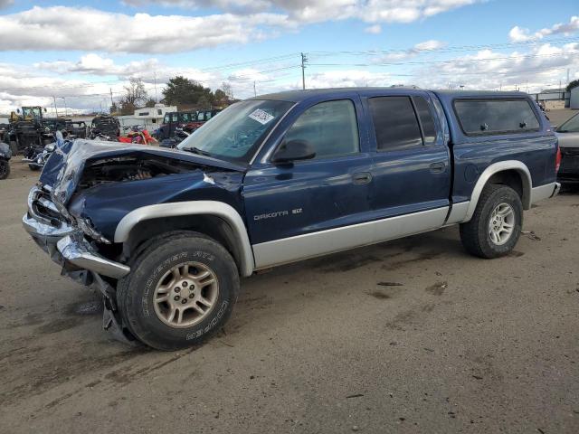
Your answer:
[[[289,128],[285,141],[290,140],[308,142],[316,150],[316,158],[358,152],[360,145],[354,103],[341,99],[310,107]]]

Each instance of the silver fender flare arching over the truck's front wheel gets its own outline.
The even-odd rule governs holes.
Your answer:
[[[190,201],[177,203],[159,203],[137,208],[129,212],[117,225],[115,242],[128,241],[130,231],[138,224],[160,217],[178,217],[186,215],[209,214],[220,217],[231,226],[236,241],[241,248],[241,273],[243,277],[251,276],[255,268],[253,250],[247,229],[239,212],[227,203],[217,201]]]

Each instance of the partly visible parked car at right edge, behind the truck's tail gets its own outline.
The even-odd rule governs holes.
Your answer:
[[[561,147],[559,182],[579,184],[579,113],[557,127],[556,136]]]

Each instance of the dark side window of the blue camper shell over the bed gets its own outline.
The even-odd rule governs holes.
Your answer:
[[[468,135],[533,131],[539,121],[526,99],[458,100],[454,110]]]

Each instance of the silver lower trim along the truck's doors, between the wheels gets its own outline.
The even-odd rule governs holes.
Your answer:
[[[448,206],[254,244],[256,269],[394,240],[441,228]]]

